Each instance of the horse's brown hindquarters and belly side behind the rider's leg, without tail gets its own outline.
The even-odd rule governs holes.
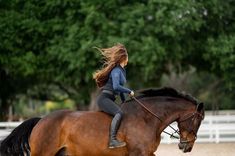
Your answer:
[[[117,149],[116,152],[108,149],[111,120],[112,117],[103,112],[54,112],[33,129],[30,137],[32,152],[50,148],[55,150],[43,155],[55,155],[56,151],[66,148],[68,155],[126,155],[126,148]],[[119,137],[123,136],[119,133]]]

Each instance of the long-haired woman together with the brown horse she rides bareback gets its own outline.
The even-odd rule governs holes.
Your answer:
[[[114,102],[115,95],[121,94],[122,100],[123,93],[134,95],[123,87],[126,49],[118,44],[100,51],[106,62],[94,74],[102,90],[98,105],[114,118],[103,112],[61,110],[26,120],[0,143],[1,156],[154,156],[161,133],[174,121],[179,128],[175,130],[179,148],[192,150],[204,118],[204,104],[173,88],[145,89],[140,96],[125,101],[121,111]],[[120,125],[122,113],[125,118]],[[118,140],[125,142],[116,139],[117,129]],[[111,148],[126,146],[109,149],[107,144]]]

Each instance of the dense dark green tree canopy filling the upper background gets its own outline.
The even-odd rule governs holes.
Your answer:
[[[128,49],[133,88],[158,86],[172,64],[215,74],[232,90],[234,9],[232,0],[0,1],[1,107],[18,94],[60,101],[56,87],[88,104],[101,66],[92,47],[117,42]]]

